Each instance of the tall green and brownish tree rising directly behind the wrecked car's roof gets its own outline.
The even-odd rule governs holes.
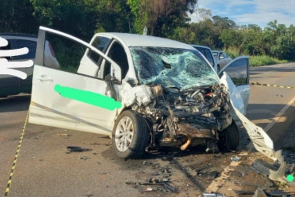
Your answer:
[[[193,12],[197,0],[128,0],[133,13],[134,32],[170,37],[178,27],[187,26],[187,11]]]

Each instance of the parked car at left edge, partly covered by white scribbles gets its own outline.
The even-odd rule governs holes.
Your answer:
[[[21,56],[6,57],[8,61],[35,60],[37,35],[24,33],[0,33],[0,37],[8,41],[8,45],[0,47],[0,50],[13,50],[23,47],[29,48],[29,53]],[[59,63],[55,58],[54,51],[48,41],[45,45],[45,62],[48,66],[59,68]],[[12,75],[0,75],[0,97],[17,95],[19,93],[31,93],[33,66],[29,68],[14,68],[27,73],[26,79],[21,79]]]

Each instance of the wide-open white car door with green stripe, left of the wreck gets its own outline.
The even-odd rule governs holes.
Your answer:
[[[59,69],[46,65],[44,44],[47,39],[51,39],[51,50],[67,46],[67,50],[59,50],[62,52],[56,53]],[[119,69],[113,60],[89,43],[66,33],[40,27],[33,70],[29,123],[107,135],[111,133],[119,107],[107,109],[97,105],[100,101],[97,97],[107,94],[110,83],[95,74],[78,72],[80,61],[89,50],[110,62],[114,73],[115,68]],[[120,80],[118,77],[118,81]],[[97,97],[92,97],[93,95]]]

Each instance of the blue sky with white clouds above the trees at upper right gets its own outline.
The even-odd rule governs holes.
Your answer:
[[[295,25],[295,0],[198,0],[198,7],[210,9],[212,16],[228,17],[237,25],[256,24],[265,28],[270,21]],[[197,22],[196,14],[191,16]]]

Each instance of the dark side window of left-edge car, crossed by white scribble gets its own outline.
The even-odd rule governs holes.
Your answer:
[[[16,48],[28,47],[29,53],[21,56],[13,57],[14,60],[25,60],[25,59],[35,59],[37,42],[32,40],[25,39],[16,39],[15,40]]]

